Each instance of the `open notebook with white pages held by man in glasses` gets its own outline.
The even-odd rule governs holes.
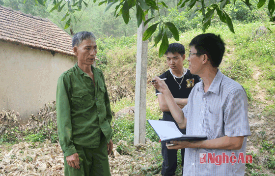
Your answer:
[[[207,140],[207,136],[204,135],[184,135],[177,128],[176,124],[172,121],[164,120],[148,120],[149,124],[155,130],[161,141],[198,141]]]

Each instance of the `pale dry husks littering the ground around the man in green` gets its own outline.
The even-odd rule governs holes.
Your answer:
[[[120,155],[116,148],[120,145],[129,147],[131,153]],[[128,146],[126,141],[114,145],[109,157],[112,176],[138,176],[140,170],[155,166],[153,152],[157,143]],[[140,145],[139,145],[140,147]],[[19,143],[11,148],[0,146],[0,176],[64,176],[63,153],[58,143],[51,144],[49,140],[42,143]],[[160,176],[160,175],[155,175]]]

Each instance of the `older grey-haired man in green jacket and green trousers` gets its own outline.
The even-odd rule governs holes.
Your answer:
[[[110,176],[110,100],[103,73],[92,66],[97,54],[92,32],[73,36],[78,62],[58,78],[56,113],[65,176]]]

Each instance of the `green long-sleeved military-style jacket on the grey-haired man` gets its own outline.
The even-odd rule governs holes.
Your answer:
[[[56,113],[59,143],[64,156],[76,153],[73,144],[99,147],[101,131],[112,135],[110,100],[100,69],[91,65],[94,83],[76,63],[57,82]]]

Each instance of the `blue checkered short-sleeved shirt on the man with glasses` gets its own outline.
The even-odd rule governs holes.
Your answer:
[[[182,109],[187,118],[186,134],[207,135],[208,140],[225,135],[245,138],[239,150],[186,148],[183,176],[244,176],[245,164],[242,161],[246,159],[247,136],[250,136],[246,91],[220,70],[206,93],[203,88],[203,81],[197,83],[189,95],[188,104]],[[221,156],[215,158],[213,153]],[[243,153],[244,160],[240,153]],[[220,164],[219,159],[224,163]]]

